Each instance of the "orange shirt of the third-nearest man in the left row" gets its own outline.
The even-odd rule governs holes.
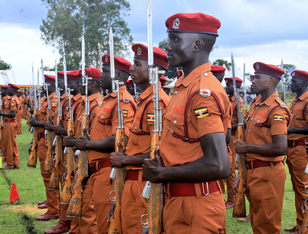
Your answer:
[[[129,128],[132,125],[136,104],[133,97],[127,92],[126,86],[121,86],[120,107],[123,110],[123,120],[125,135],[129,135]],[[118,127],[117,98],[116,93],[108,93],[103,97],[103,103],[98,113],[95,114],[94,121],[90,129],[91,140],[103,140],[115,134],[115,128]],[[91,165],[96,161],[110,157],[110,153],[101,153],[94,150],[88,150],[88,161]]]

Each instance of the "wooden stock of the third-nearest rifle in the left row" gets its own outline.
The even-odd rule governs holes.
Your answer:
[[[88,116],[83,115],[81,120],[81,130],[88,129]],[[78,162],[78,177],[74,185],[74,193],[71,196],[70,203],[67,208],[67,217],[81,218],[82,216],[82,192],[81,185],[87,174],[87,150],[80,150]]]

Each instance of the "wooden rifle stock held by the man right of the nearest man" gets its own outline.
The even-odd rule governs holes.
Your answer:
[[[244,125],[237,126],[237,139],[245,142],[244,135]],[[245,154],[238,154],[238,170],[239,170],[239,183],[237,197],[234,201],[233,207],[233,218],[245,218],[246,217],[246,205],[245,205],[245,194],[244,194],[244,185],[247,179],[246,174],[246,159]]]

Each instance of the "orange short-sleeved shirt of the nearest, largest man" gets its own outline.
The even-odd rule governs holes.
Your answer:
[[[168,129],[185,135],[185,105],[192,93],[196,92],[187,108],[187,123],[185,123],[188,137],[201,138],[206,134],[217,132],[226,135],[230,126],[231,104],[221,83],[210,71],[210,64],[203,64],[188,76],[181,76],[175,83],[172,99],[164,115],[160,142],[160,156],[165,166],[184,165],[204,155],[200,142],[184,142],[173,137]],[[214,96],[217,96],[219,104]]]

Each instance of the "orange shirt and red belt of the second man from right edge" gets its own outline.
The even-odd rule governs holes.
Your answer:
[[[292,115],[289,118],[288,112],[290,110],[285,106],[283,101],[278,97],[278,93],[274,92],[264,102],[260,100],[261,96],[256,97],[247,113],[247,127],[245,131],[245,140],[247,144],[251,145],[266,145],[273,143],[272,136],[286,135],[289,126],[287,123],[291,121]],[[277,106],[272,113],[269,112]],[[266,123],[266,119],[268,121]],[[270,125],[269,128],[261,127],[262,124]],[[285,155],[277,155],[275,157],[266,157],[254,153],[246,153],[246,160],[262,160],[279,162],[284,159]]]

